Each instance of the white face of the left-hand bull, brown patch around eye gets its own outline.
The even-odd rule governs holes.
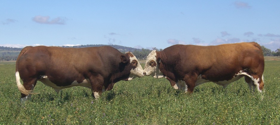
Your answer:
[[[126,53],[128,53],[128,52],[126,52]],[[133,55],[133,57],[129,57],[129,59],[130,59],[130,63],[133,60],[136,60],[138,62],[137,58],[134,55]],[[143,70],[142,66],[140,65],[140,63],[138,62],[137,67],[130,70],[130,75],[128,77],[128,80],[132,80],[136,77],[143,77],[143,76],[144,76],[144,70]]]

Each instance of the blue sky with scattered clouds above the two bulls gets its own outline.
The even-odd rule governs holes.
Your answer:
[[[280,48],[280,1],[0,0],[0,46],[174,44],[255,41]]]

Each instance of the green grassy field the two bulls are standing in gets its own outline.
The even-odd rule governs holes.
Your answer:
[[[100,99],[71,87],[57,94],[38,82],[20,103],[15,65],[0,65],[0,124],[279,124],[280,61],[265,61],[263,93],[251,93],[244,78],[227,88],[205,83],[193,94],[166,79],[144,76],[120,81]]]

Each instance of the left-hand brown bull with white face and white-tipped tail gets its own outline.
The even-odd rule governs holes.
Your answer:
[[[21,101],[31,97],[37,81],[52,87],[56,92],[72,86],[87,87],[98,98],[105,90],[111,90],[116,82],[132,80],[144,74],[131,52],[122,54],[110,46],[27,46],[16,60],[16,82],[21,91]]]

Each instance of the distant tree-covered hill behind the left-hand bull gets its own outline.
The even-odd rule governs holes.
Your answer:
[[[99,44],[99,45],[80,45],[80,46],[59,46],[59,47],[63,47],[63,48],[84,48],[84,47],[98,47],[98,46],[112,46],[112,47],[118,49],[122,53],[130,51],[130,52],[135,52],[135,54],[138,54],[141,51],[150,51],[148,49],[136,49],[136,48],[126,47],[126,46],[103,45],[103,44]],[[0,46],[0,61],[1,62],[3,62],[3,61],[16,61],[16,58],[18,57],[21,49],[22,48]],[[145,58],[145,56],[147,56],[147,55],[143,55],[140,58]]]

